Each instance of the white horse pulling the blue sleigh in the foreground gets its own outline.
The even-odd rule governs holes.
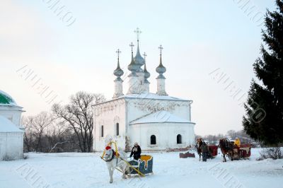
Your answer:
[[[112,138],[107,136],[108,138],[105,139],[105,143],[109,143],[112,141]],[[122,151],[121,148],[117,148],[119,153],[119,157],[115,156],[115,153],[112,149],[105,151],[105,161],[108,167],[109,175],[110,175],[110,184],[113,182],[113,172],[116,168],[119,168],[123,175],[123,179],[127,179],[126,172],[129,172],[129,165],[125,163],[127,161],[127,153]]]

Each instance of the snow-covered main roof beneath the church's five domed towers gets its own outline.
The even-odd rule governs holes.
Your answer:
[[[141,99],[157,99],[157,100],[183,100],[183,101],[189,101],[181,98],[174,98],[171,96],[166,95],[157,95],[155,93],[141,93],[141,94],[129,94],[129,95],[123,95],[120,98],[141,98]]]

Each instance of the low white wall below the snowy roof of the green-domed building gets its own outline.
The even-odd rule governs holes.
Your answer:
[[[0,133],[0,160],[23,158],[23,132]]]

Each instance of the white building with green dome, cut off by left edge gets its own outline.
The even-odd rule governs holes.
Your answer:
[[[22,112],[23,107],[0,90],[0,160],[23,158]]]

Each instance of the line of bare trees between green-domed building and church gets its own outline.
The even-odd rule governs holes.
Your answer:
[[[52,105],[50,112],[23,117],[25,152],[91,152],[93,105],[105,101],[102,94],[78,92],[69,104]]]

